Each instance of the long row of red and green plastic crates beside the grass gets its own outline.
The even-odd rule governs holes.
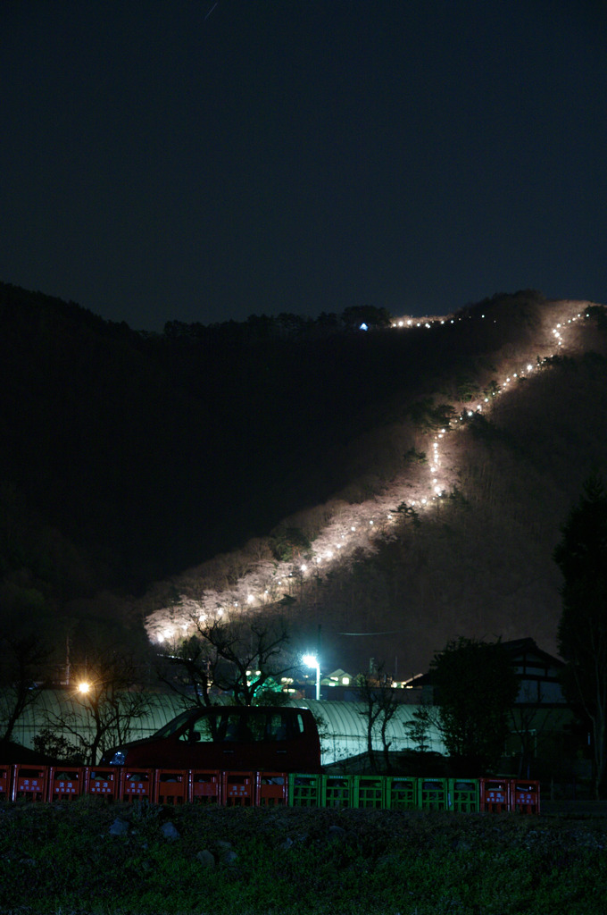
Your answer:
[[[220,770],[127,770],[118,766],[0,766],[0,800],[108,801],[222,806],[354,807],[460,813],[539,813],[539,782],[387,775]]]

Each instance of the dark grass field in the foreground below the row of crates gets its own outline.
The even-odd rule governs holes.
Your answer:
[[[2,915],[604,915],[582,813],[0,804]]]

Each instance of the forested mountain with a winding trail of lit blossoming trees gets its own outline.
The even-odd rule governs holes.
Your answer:
[[[154,335],[0,285],[0,321],[5,613],[157,634],[238,595],[322,625],[328,667],[401,677],[458,634],[554,650],[551,551],[607,466],[602,307],[521,292],[411,327],[350,309]]]

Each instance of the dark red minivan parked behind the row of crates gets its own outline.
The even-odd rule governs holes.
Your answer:
[[[307,708],[197,707],[182,712],[152,737],[107,750],[101,765],[319,772],[320,739]]]

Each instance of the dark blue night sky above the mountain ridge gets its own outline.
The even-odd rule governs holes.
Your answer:
[[[604,8],[3,0],[0,280],[152,330],[605,303]]]

